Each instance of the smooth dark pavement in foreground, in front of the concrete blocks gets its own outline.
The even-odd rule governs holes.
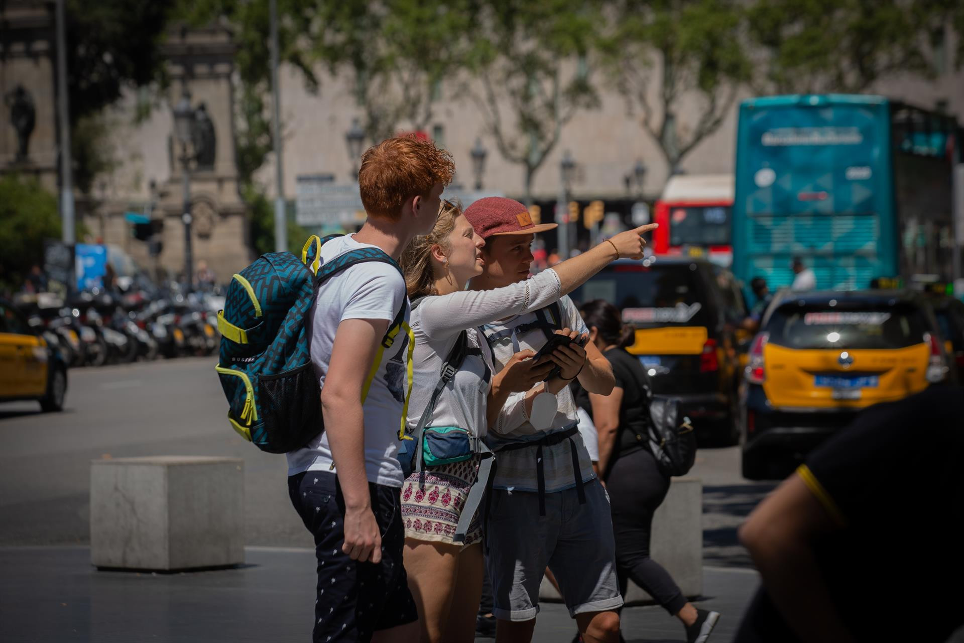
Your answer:
[[[0,548],[0,638],[51,641],[243,643],[310,640],[312,549],[247,548],[247,564],[186,574],[101,572],[87,547]],[[723,614],[710,638],[731,639],[758,576],[704,568],[700,606]],[[628,607],[629,643],[682,641],[683,628],[657,606]],[[568,643],[575,622],[558,603],[542,605],[534,641]],[[479,639],[480,641],[491,639]]]

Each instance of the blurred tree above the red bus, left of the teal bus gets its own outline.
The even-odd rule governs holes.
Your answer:
[[[672,170],[715,132],[750,79],[738,0],[619,0],[599,40],[603,67]],[[695,113],[688,121],[680,111]]]

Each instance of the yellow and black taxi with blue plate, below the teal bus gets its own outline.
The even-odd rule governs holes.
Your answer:
[[[920,293],[779,293],[740,390],[743,477],[782,478],[861,410],[949,379],[940,327]]]

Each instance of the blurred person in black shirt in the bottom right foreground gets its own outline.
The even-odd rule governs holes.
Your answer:
[[[964,624],[964,388],[870,407],[740,527],[737,643],[943,642]]]

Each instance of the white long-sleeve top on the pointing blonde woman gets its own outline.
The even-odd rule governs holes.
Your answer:
[[[410,322],[415,334],[415,387],[409,402],[408,431],[415,430],[439,383],[442,361],[448,357],[459,334],[468,331],[469,348],[480,349],[481,357],[466,356],[440,393],[426,426],[458,426],[480,438],[485,436],[488,430],[486,397],[492,384],[491,376],[487,380],[486,374],[494,373],[495,369],[485,337],[480,337],[475,327],[545,308],[559,299],[560,289],[559,276],[550,269],[502,288],[463,290],[428,296],[419,302]],[[503,416],[513,416],[512,424],[525,420],[524,394],[514,393],[503,407]]]

